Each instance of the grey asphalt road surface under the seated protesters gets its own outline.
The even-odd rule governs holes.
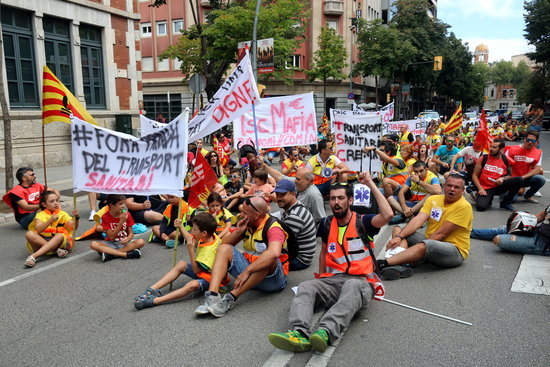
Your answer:
[[[542,136],[550,151],[550,134]],[[538,212],[550,202],[550,184],[541,192],[540,204],[514,205]],[[66,200],[67,208],[71,204]],[[78,206],[87,229],[87,203],[79,200]],[[508,215],[494,208],[474,212],[474,226],[496,226]],[[385,229],[377,250],[387,236]],[[158,244],[147,245],[139,260],[102,263],[83,241],[65,259],[44,258],[25,269],[24,231],[10,222],[0,225],[0,246],[1,366],[550,365],[550,299],[510,292],[522,255],[489,242],[473,240],[470,257],[458,268],[420,266],[409,279],[385,282],[388,299],[472,326],[372,301],[324,354],[277,351],[267,340],[270,332],[288,329],[291,287],[310,279],[316,263],[291,273],[284,291],[251,291],[216,319],[193,314],[201,297],[134,308],[134,297],[171,267],[173,251]],[[186,259],[186,250],[178,258]],[[174,286],[186,281],[182,276]]]

